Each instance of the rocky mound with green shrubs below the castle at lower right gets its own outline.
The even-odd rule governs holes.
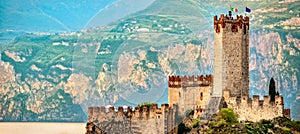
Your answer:
[[[178,126],[178,133],[280,133],[300,132],[300,122],[286,117],[259,122],[238,122],[232,109],[223,108],[211,120],[203,121],[187,117]]]

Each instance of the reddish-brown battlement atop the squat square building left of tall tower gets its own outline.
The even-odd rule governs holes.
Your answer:
[[[212,75],[201,76],[169,76],[169,87],[203,87],[211,86]]]

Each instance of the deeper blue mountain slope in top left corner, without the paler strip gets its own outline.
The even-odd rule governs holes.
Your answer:
[[[58,32],[81,30],[100,9],[114,1],[1,1],[0,30]]]

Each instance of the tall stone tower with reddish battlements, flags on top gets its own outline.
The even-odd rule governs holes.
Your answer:
[[[249,96],[249,17],[214,17],[213,96]]]

